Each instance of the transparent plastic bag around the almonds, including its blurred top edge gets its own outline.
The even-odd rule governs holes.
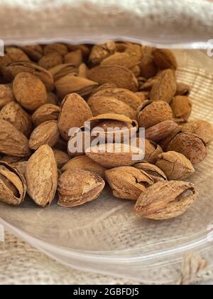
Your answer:
[[[3,9],[0,11],[0,33],[6,44],[94,43],[113,38],[169,48],[207,48],[213,27],[213,5],[207,1],[99,1],[97,5],[97,1],[82,4],[63,0],[59,5],[58,1],[34,0],[24,1],[24,8],[21,0],[10,1],[10,5],[9,1],[1,2],[7,5],[9,16],[16,9],[12,26],[2,23],[5,16]],[[33,13],[27,14],[29,11]],[[88,19],[88,14],[93,17]],[[213,125],[212,59],[206,51],[174,53],[178,58],[178,80],[192,87],[191,118],[202,118]],[[133,202],[114,199],[107,190],[96,201],[75,209],[62,209],[55,202],[48,209],[40,209],[29,199],[18,207],[1,204],[0,223],[68,266],[143,283],[175,283],[187,251],[201,253],[213,267],[213,243],[208,230],[213,224],[212,162],[213,145],[191,179],[197,184],[199,199],[178,219],[138,219],[132,213]]]

